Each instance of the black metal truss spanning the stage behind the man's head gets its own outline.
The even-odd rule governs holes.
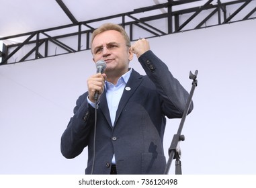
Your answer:
[[[3,50],[0,50],[0,57],[2,58],[0,65],[89,50],[91,33],[97,26],[101,25],[99,23],[102,21],[111,22],[113,19],[120,20],[119,24],[128,30],[130,40],[133,41],[138,39],[138,33],[136,32],[140,32],[139,38],[153,38],[187,30],[196,30],[236,21],[255,19],[256,17],[256,2],[253,0],[229,1],[226,3],[222,3],[220,0],[169,0],[167,3],[159,5],[142,7],[118,15],[79,22],[72,16],[61,0],[56,1],[73,23],[66,26],[0,38],[0,41],[3,41]],[[181,5],[188,5],[188,3],[200,2],[203,2],[203,4],[197,7],[190,6],[191,8],[188,9],[178,8],[181,7]],[[145,13],[156,10],[162,10],[162,12],[164,10],[164,12],[145,16]],[[157,23],[159,22],[165,24],[162,24],[161,28],[158,28]],[[165,27],[163,27],[163,25]],[[63,30],[69,32],[66,31],[65,34],[54,34],[54,32],[56,33]],[[70,32],[70,30],[75,30],[75,32]],[[5,44],[5,40],[17,38],[22,39],[23,42],[9,45]],[[67,40],[65,39],[68,38],[72,41],[72,44],[66,42]],[[60,49],[58,50],[59,52],[57,52],[57,48]],[[25,55],[23,53],[22,57],[17,56],[18,52],[22,49],[26,51]],[[55,49],[54,52],[52,52],[52,49]],[[15,60],[13,60],[13,56],[16,56]]]

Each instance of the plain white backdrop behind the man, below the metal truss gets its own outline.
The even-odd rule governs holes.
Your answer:
[[[256,173],[255,33],[248,20],[149,40],[187,91],[199,71],[183,174]],[[144,74],[135,56],[130,66]],[[87,148],[68,160],[60,136],[94,73],[89,51],[0,66],[0,174],[84,174]],[[166,154],[179,122],[167,121]]]

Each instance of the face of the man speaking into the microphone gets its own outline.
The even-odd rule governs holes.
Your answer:
[[[126,46],[126,41],[120,32],[109,30],[95,36],[91,51],[93,61],[104,60],[107,64],[105,73],[107,76],[123,75],[128,71],[133,54]]]

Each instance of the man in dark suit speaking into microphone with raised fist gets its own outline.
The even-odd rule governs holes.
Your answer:
[[[88,91],[77,99],[61,137],[63,156],[75,158],[87,146],[86,174],[163,174],[166,117],[181,118],[189,94],[148,41],[131,46],[121,26],[97,28],[91,52],[106,66],[87,79]],[[145,76],[130,68],[134,54]]]

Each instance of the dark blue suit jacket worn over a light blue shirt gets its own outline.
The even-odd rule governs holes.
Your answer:
[[[153,52],[138,59],[147,76],[132,70],[112,126],[105,91],[97,109],[94,174],[110,174],[112,156],[118,174],[163,174],[163,135],[167,118],[181,118],[188,93]],[[95,109],[88,93],[77,99],[74,116],[61,138],[61,152],[74,158],[88,146],[86,174],[93,164]],[[191,107],[189,112],[193,108]]]

